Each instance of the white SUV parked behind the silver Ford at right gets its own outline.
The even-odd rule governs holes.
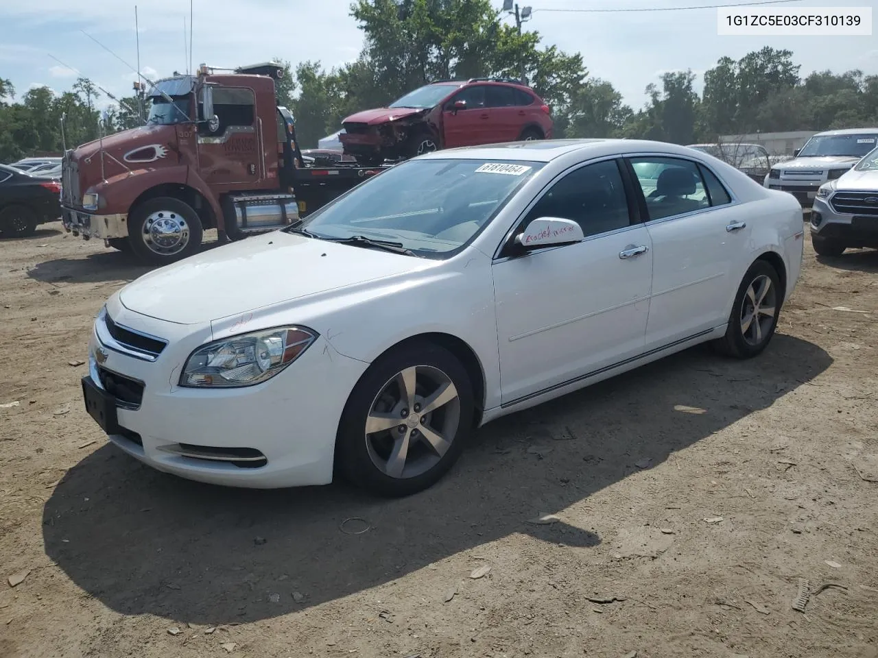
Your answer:
[[[810,208],[820,186],[846,174],[876,142],[878,128],[817,132],[795,152],[793,160],[774,165],[762,184],[789,192],[803,208]]]

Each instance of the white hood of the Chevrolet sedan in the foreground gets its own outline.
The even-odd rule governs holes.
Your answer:
[[[123,288],[119,301],[151,318],[195,325],[407,275],[435,263],[270,232],[156,269]]]

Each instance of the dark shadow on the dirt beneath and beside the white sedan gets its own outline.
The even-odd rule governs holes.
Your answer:
[[[752,361],[696,347],[489,424],[449,476],[404,499],[343,485],[212,487],[107,445],[45,504],[46,553],[114,611],[219,625],[346,597],[512,533],[589,552],[601,543],[594,528],[529,519],[623,481],[644,458],[665,461],[830,364],[784,335]]]

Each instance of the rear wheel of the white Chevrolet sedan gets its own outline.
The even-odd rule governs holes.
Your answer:
[[[756,261],[747,270],[731,306],[729,326],[717,349],[737,359],[760,354],[774,336],[783,304],[781,279],[766,261]]]

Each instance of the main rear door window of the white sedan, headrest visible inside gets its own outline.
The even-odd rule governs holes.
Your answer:
[[[631,158],[634,175],[646,197],[650,219],[697,211],[710,205],[698,166],[666,157]]]

